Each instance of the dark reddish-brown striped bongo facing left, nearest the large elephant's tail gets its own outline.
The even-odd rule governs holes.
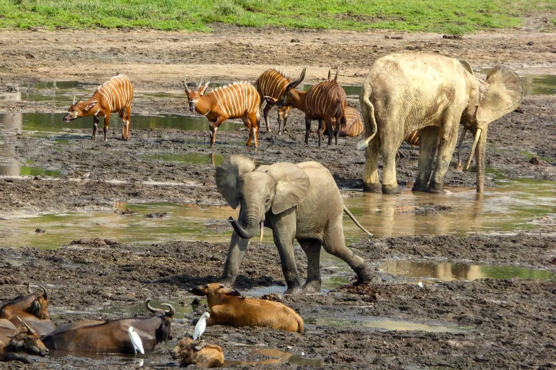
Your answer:
[[[294,106],[305,113],[305,144],[309,141],[311,121],[314,119],[319,120],[319,128],[322,127],[322,121],[325,122],[329,135],[328,145],[332,143],[332,132],[335,134],[337,144],[340,127],[345,127],[346,124],[346,93],[336,81],[338,72],[336,71],[334,81],[324,81],[312,86],[309,91],[299,91],[295,87],[305,78],[305,70],[306,68],[303,68],[299,78],[287,84],[276,105],[278,107]],[[334,119],[336,122],[340,122],[340,124],[336,124],[335,129],[332,126]]]

